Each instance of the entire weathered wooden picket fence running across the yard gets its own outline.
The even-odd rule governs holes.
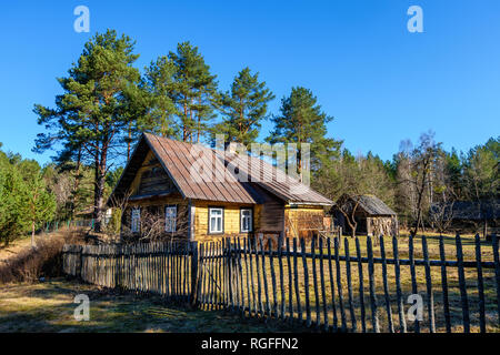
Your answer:
[[[497,237],[491,261],[482,260],[491,255],[479,235],[473,260],[464,260],[459,235],[451,260],[443,237],[439,258],[429,256],[428,237],[418,239],[420,248],[410,236],[408,248],[392,237],[388,250],[382,236],[368,236],[366,245],[358,237],[286,239],[277,248],[258,239],[67,245],[63,267],[101,286],[323,332],[498,332]]]

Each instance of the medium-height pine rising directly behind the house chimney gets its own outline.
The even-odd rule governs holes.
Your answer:
[[[259,73],[252,75],[250,69],[244,68],[234,78],[231,91],[221,94],[220,110],[224,118],[216,125],[212,135],[221,133],[229,142],[249,146],[256,142],[268,102],[273,99],[266,82],[259,82]]]

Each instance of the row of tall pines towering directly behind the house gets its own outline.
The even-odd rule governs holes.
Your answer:
[[[236,74],[230,90],[220,90],[217,75],[190,42],[179,43],[141,73],[133,67],[139,57],[134,44],[113,30],[97,33],[68,75],[58,79],[63,93],[56,98],[56,108],[34,105],[38,123],[46,128],[34,151],[57,149],[58,166],[73,170],[77,180],[82,166],[93,171],[96,231],[102,224],[107,175],[124,151],[130,158],[142,132],[193,143],[213,141],[221,133],[227,141],[248,145],[270,118],[268,103],[274,99],[249,68]],[[317,168],[337,154],[340,142],[326,138],[331,118],[310,90],[293,88],[271,120],[276,130],[268,142],[294,142],[299,150],[301,143],[313,143]]]

